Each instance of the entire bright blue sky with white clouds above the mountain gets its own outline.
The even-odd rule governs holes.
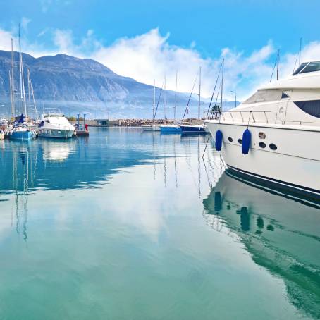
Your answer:
[[[316,0],[0,0],[0,49],[17,44],[33,56],[92,58],[120,75],[190,92],[199,67],[209,97],[225,59],[226,99],[245,99],[269,82],[280,49],[280,75],[302,60],[320,60]]]

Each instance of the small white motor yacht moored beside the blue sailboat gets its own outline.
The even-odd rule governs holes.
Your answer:
[[[68,139],[75,133],[75,127],[62,113],[46,113],[37,130],[39,137]]]

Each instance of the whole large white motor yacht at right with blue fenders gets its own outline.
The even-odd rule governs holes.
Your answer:
[[[319,118],[320,61],[311,61],[206,124],[228,171],[320,200]]]

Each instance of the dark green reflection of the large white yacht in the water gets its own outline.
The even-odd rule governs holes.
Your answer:
[[[225,172],[203,200],[204,219],[234,234],[256,264],[281,278],[288,299],[320,317],[320,210]],[[257,283],[257,285],[259,285]]]

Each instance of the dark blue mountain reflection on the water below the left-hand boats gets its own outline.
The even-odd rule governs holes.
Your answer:
[[[110,135],[114,142],[106,143],[107,135],[92,135],[91,143],[85,139],[70,141],[35,140],[28,142],[29,157],[37,159],[33,168],[32,190],[68,190],[97,187],[117,172],[119,168],[128,168],[144,164],[149,159],[149,152],[123,147],[130,132]],[[108,136],[109,137],[109,136]],[[147,138],[146,138],[147,140]],[[6,142],[6,141],[5,141]],[[14,192],[12,172],[12,154],[18,156],[20,142],[6,143],[6,149],[1,152],[0,192]],[[119,145],[121,147],[119,147]],[[22,160],[21,160],[22,161]],[[18,179],[23,173],[21,166],[17,167]],[[29,187],[30,190],[30,187]]]

